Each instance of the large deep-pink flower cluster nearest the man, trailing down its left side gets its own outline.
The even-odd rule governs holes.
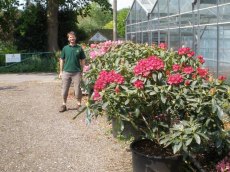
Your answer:
[[[114,70],[108,72],[104,70],[101,71],[94,85],[94,100],[100,99],[99,92],[107,85],[111,83],[123,84],[124,82],[124,77],[121,74],[116,73]]]

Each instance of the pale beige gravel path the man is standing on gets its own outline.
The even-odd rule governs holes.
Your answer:
[[[38,76],[0,75],[0,171],[131,172],[129,143],[104,118],[86,126],[77,110],[59,113],[60,81]]]

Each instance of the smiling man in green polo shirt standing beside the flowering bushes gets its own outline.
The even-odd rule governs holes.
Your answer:
[[[69,44],[64,46],[60,57],[60,74],[62,78],[63,104],[59,112],[67,110],[66,102],[71,82],[74,83],[74,92],[77,99],[76,108],[81,106],[82,92],[80,88],[81,72],[85,65],[85,53],[80,45],[76,44],[76,35],[73,31],[67,34]]]

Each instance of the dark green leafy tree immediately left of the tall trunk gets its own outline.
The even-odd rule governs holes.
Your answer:
[[[47,50],[46,8],[40,3],[30,4],[21,12],[15,25],[14,39],[19,50]]]

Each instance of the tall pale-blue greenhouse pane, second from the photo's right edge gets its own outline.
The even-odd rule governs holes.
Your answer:
[[[217,26],[200,28],[200,54],[210,71],[217,73]]]

